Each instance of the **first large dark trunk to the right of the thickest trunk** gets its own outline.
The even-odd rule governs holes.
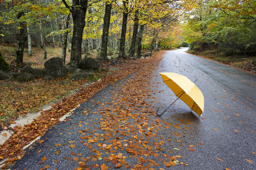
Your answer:
[[[101,40],[101,60],[108,59],[108,40],[109,40],[109,25],[111,18],[111,9],[112,4],[106,3],[105,7],[105,15],[104,15],[104,23],[103,23],[103,31],[102,31],[102,40]]]

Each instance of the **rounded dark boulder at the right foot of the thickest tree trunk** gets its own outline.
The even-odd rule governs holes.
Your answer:
[[[100,66],[101,62],[98,61],[98,59],[90,57],[82,59],[82,61],[78,65],[79,69],[82,70],[98,70],[100,69]]]

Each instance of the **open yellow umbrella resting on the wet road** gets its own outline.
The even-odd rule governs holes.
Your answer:
[[[178,97],[177,99],[184,101],[184,103],[187,104],[192,111],[201,116],[204,111],[204,96],[199,88],[196,87],[196,81],[193,83],[186,76],[177,73],[159,74],[162,76],[163,82],[166,83],[167,86],[170,87],[174,94]],[[168,108],[170,108],[171,105]],[[166,112],[167,109],[164,112]],[[156,111],[158,116],[161,116],[164,113],[162,112],[161,114],[158,114],[158,111],[159,109]]]

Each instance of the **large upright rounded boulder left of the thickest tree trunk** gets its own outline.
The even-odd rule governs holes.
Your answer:
[[[54,78],[65,77],[68,74],[68,69],[65,67],[61,58],[50,58],[44,63],[44,69],[46,74],[51,75]]]

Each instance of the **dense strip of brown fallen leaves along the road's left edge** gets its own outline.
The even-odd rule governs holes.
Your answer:
[[[160,53],[158,54],[160,55]],[[108,86],[108,84],[114,83],[117,80],[125,78],[127,75],[135,73],[136,71],[142,69],[142,67],[147,65],[147,63],[156,63],[156,58],[158,57],[159,56],[155,56],[147,59],[138,60],[131,59],[127,63],[117,65],[121,70],[115,71],[113,74],[106,74],[104,77],[102,77],[100,82],[95,82],[94,84],[90,84],[87,87],[80,88],[80,90],[75,95],[65,97],[59,103],[52,105],[52,108],[48,111],[43,111],[41,113],[42,115],[31,124],[24,125],[23,127],[16,126],[13,129],[15,133],[9,138],[9,140],[7,140],[2,146],[0,146],[0,159],[8,158],[7,163],[2,168],[7,167],[8,165],[18,160],[19,157],[22,157],[22,155],[24,154],[23,147],[28,145],[37,137],[44,135],[48,128],[59,122],[59,118],[61,116],[68,113],[71,109],[77,107],[78,104],[84,103],[85,101],[90,99],[90,97],[92,97],[102,88]],[[51,85],[52,84],[48,84],[48,86],[46,86],[46,89],[49,88]],[[53,89],[56,90],[56,88],[59,87],[55,86],[55,88]],[[71,88],[71,85],[67,86],[66,88]],[[24,97],[22,95],[20,96]],[[26,108],[26,106],[24,107]]]

